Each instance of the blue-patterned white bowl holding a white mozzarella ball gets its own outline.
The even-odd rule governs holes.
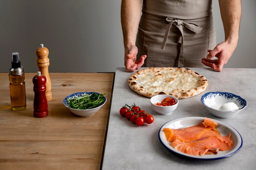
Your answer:
[[[247,106],[247,101],[245,99],[229,92],[206,93],[201,97],[201,102],[211,114],[219,118],[230,118],[235,116]],[[229,102],[235,103],[239,107],[239,110],[223,111],[218,109],[223,104]]]

